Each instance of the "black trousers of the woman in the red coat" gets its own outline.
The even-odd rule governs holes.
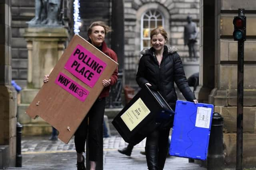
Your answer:
[[[84,148],[88,132],[87,141],[91,152],[87,156],[90,161],[99,159],[100,137],[102,137],[100,132],[103,129],[105,104],[105,98],[97,99],[75,133],[76,152],[82,153],[85,152]]]

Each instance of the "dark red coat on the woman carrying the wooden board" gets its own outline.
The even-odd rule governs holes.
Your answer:
[[[117,63],[116,53],[112,49],[107,47],[105,41],[103,41],[103,43],[102,43],[102,52],[104,54],[106,54],[107,56],[109,56],[114,61],[116,61],[116,63]],[[118,79],[118,67],[116,67],[116,70],[110,77],[110,80],[111,80],[110,86],[113,86],[116,83],[117,79]],[[104,98],[104,97],[109,96],[110,86],[103,88],[102,92],[100,93],[99,98]]]

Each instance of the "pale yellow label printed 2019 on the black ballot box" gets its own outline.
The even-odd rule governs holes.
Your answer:
[[[121,115],[121,119],[129,130],[132,131],[149,113],[150,110],[139,98]]]

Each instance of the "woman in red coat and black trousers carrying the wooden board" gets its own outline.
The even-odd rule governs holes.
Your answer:
[[[104,54],[108,55],[111,59],[117,62],[117,55],[112,50],[109,49],[105,43],[105,35],[109,31],[112,31],[108,25],[106,25],[102,21],[93,22],[90,27],[88,28],[87,35],[89,37],[88,41],[102,51]],[[92,105],[90,111],[78,127],[75,133],[75,147],[76,147],[76,154],[77,154],[77,169],[78,170],[85,170],[84,165],[84,156],[83,152],[85,152],[85,142],[86,136],[88,131],[88,145],[90,148],[90,152],[88,159],[90,161],[90,170],[95,170],[96,162],[99,160],[100,157],[100,132],[103,129],[103,117],[105,111],[105,98],[109,96],[110,86],[114,85],[118,78],[118,68],[114,71],[110,79],[103,80],[102,85],[104,89],[100,93],[100,96]],[[48,82],[49,78],[48,75],[44,77],[44,82]],[[89,121],[88,121],[89,119]]]

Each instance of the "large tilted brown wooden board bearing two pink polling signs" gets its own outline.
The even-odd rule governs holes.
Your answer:
[[[40,116],[68,143],[118,63],[79,35],[74,35],[26,113]]]

